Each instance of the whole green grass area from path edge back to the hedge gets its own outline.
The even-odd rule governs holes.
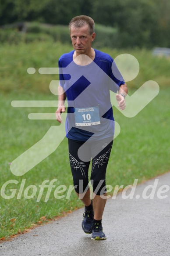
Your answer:
[[[11,173],[9,163],[24,151],[38,142],[49,130],[56,126],[55,120],[30,120],[30,112],[54,113],[56,108],[13,108],[14,100],[57,100],[57,96],[50,93],[49,83],[56,79],[56,75],[27,74],[28,67],[57,67],[57,60],[61,54],[71,50],[70,46],[60,43],[32,43],[19,46],[0,47],[1,75],[0,75],[0,120],[1,120],[1,151],[0,151],[0,188],[8,180],[17,180],[18,184],[8,184],[5,190],[11,195],[10,189],[16,189],[14,198],[4,199],[0,196],[0,238],[9,237],[25,227],[42,220],[62,216],[64,212],[82,207],[74,191],[70,199],[56,199],[54,191],[59,185],[68,189],[72,184],[71,171],[68,160],[67,139],[60,144],[56,151],[40,162],[22,177]],[[125,51],[105,49],[113,57]],[[126,52],[127,53],[127,52]],[[129,94],[140,87],[147,80],[159,83],[160,92],[137,116],[126,118],[116,108],[114,116],[120,124],[120,134],[113,143],[110,162],[107,169],[107,184],[113,186],[133,184],[135,178],[139,182],[155,177],[170,170],[170,75],[167,66],[169,60],[152,57],[145,50],[128,52],[133,54],[140,63],[138,77],[128,83]],[[169,70],[169,69],[168,69]],[[62,129],[62,128],[61,128]],[[56,134],[57,136],[57,134]],[[31,161],[31,159],[30,159]],[[21,199],[17,199],[22,179],[25,186]],[[44,180],[57,179],[52,188],[50,198],[44,202],[47,188],[42,198],[36,202],[39,185]],[[29,185],[37,187],[36,195],[31,199],[24,198],[24,191]],[[32,194],[32,189],[28,195]]]

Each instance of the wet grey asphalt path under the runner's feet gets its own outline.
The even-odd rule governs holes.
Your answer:
[[[93,241],[82,231],[84,209],[78,209],[1,243],[0,256],[169,256],[168,187],[170,172],[137,185],[132,199],[124,198],[133,194],[131,189],[109,198],[103,214],[104,241]]]

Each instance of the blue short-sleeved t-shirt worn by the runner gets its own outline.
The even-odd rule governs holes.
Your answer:
[[[64,88],[68,102],[66,137],[77,141],[99,140],[114,135],[110,90],[116,93],[124,84],[113,58],[94,50],[95,58],[89,65],[77,65],[73,61],[74,50],[63,54],[58,61],[60,86]],[[99,111],[100,124],[76,126],[75,108],[87,111],[93,107]],[[85,114],[83,118],[88,118]]]

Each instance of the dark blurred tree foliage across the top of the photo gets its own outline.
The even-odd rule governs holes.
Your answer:
[[[118,47],[170,47],[170,0],[0,0],[0,25],[68,25],[81,14],[117,29]]]

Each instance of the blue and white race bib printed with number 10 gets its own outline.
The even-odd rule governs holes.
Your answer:
[[[100,124],[99,107],[75,108],[74,116],[76,126]]]

